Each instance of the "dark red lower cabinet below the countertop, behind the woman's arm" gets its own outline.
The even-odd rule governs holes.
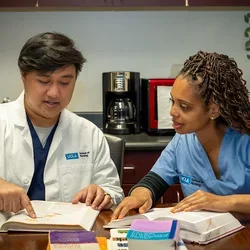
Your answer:
[[[161,150],[125,151],[122,180],[122,188],[125,195],[150,171],[160,154]],[[166,191],[158,202],[176,203],[181,199],[183,199],[181,186],[180,184],[175,184]]]

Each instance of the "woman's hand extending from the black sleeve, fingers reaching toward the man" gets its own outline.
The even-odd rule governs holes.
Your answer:
[[[139,208],[139,213],[146,213],[152,207],[152,193],[145,187],[133,190],[115,209],[111,220],[122,219],[131,209]]]

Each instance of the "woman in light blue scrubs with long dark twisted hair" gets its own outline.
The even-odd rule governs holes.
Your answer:
[[[171,90],[176,135],[151,171],[114,212],[146,212],[169,186],[185,199],[173,212],[197,209],[249,213],[250,102],[236,62],[223,54],[191,56]],[[167,98],[167,97],[166,97]]]

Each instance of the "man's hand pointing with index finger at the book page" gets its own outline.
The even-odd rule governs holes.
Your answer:
[[[5,180],[0,180],[0,211],[17,213],[22,209],[26,209],[30,217],[36,217],[24,189]]]

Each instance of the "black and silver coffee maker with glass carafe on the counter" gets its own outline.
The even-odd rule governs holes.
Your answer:
[[[103,132],[140,133],[140,73],[104,72]]]

